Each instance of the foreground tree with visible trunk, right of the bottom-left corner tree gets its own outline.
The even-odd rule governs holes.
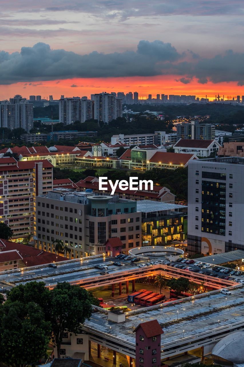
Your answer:
[[[66,282],[58,283],[51,293],[53,343],[60,358],[64,331],[79,332],[80,324],[84,324],[92,314],[92,299],[84,288]]]

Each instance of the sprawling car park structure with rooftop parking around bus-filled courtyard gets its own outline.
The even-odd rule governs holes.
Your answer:
[[[156,253],[156,250],[159,253]],[[0,286],[10,288],[37,280],[44,281],[46,286],[52,289],[57,282],[69,281],[87,290],[95,291],[99,287],[101,293],[103,289],[109,288],[112,294],[118,287],[118,294],[114,297],[114,303],[118,305],[124,297],[123,284],[127,294],[130,290],[134,291],[135,287],[141,288],[141,284],[138,285],[136,281],[159,274],[167,278],[184,277],[212,289],[208,293],[147,308],[135,308],[129,304],[132,310],[126,313],[114,313],[94,307],[97,312],[81,325],[80,334],[63,335],[61,356],[75,357],[75,353],[83,353],[84,360],[101,366],[108,365],[105,361],[115,365],[117,363],[117,366],[120,363],[125,367],[139,366],[138,360],[135,361],[135,356],[140,352],[136,345],[136,335],[138,337],[138,332],[140,333],[138,326],[155,319],[163,329],[160,342],[161,363],[174,363],[175,366],[183,361],[200,361],[210,357],[212,348],[220,339],[233,331],[243,330],[244,300],[241,280],[231,281],[209,276],[208,273],[194,273],[192,269],[189,271],[173,267],[172,265],[178,264],[175,260],[182,256],[183,251],[180,249],[156,246],[139,248],[136,251],[142,264],[148,262],[149,253],[153,259],[165,259],[166,256],[171,260],[171,264],[140,268],[131,262],[119,260],[124,266],[118,267],[114,265],[117,259],[98,255],[89,259],[70,260],[55,269],[41,266],[7,272],[0,276]],[[97,264],[106,264],[109,274],[100,275],[100,270],[94,268]],[[231,294],[222,294],[223,288],[231,290]],[[142,363],[140,365],[144,366]]]

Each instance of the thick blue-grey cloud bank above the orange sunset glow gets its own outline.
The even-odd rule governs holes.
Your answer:
[[[22,47],[21,52],[0,51],[0,84],[68,78],[133,77],[178,75],[180,83],[219,83],[236,81],[244,84],[244,53],[226,51],[209,59],[200,59],[192,51],[183,54],[156,40],[141,40],[136,51],[111,54],[93,51],[79,55],[65,50],[51,50],[45,43]],[[75,87],[75,84],[73,84]]]

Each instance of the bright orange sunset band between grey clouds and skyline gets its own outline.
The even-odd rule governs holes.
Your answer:
[[[29,83],[27,85],[25,85],[26,83],[16,83],[0,88],[0,99],[9,98],[14,94],[21,94],[27,98],[32,94],[41,95],[42,98],[47,98],[49,94],[52,94],[54,99],[59,99],[61,94],[67,97],[86,95],[90,98],[90,94],[101,91],[123,91],[125,93],[137,91],[141,99],[146,99],[148,94],[152,94],[152,98],[154,98],[158,93],[196,95],[200,98],[205,98],[207,95],[210,100],[213,100],[218,93],[221,98],[224,95],[225,100],[244,94],[244,87],[237,86],[235,82],[199,84],[196,80],[193,80],[190,84],[182,84],[175,79],[177,79],[177,76],[79,78],[37,81],[31,83],[31,85]],[[72,85],[76,87],[71,87]]]

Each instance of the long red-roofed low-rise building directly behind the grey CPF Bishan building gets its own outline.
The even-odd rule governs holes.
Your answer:
[[[76,183],[79,191],[86,192],[86,190],[91,190],[95,193],[100,193],[99,190],[99,179],[96,177],[86,177],[84,180],[80,180]],[[103,194],[111,195],[112,188],[108,183],[108,189],[103,190]],[[175,195],[170,192],[170,189],[154,185],[153,189],[149,188],[145,190],[143,186],[142,190],[121,190],[117,186],[115,189],[115,195],[119,195],[120,199],[127,200],[152,200],[159,201],[163,203],[174,204]]]

